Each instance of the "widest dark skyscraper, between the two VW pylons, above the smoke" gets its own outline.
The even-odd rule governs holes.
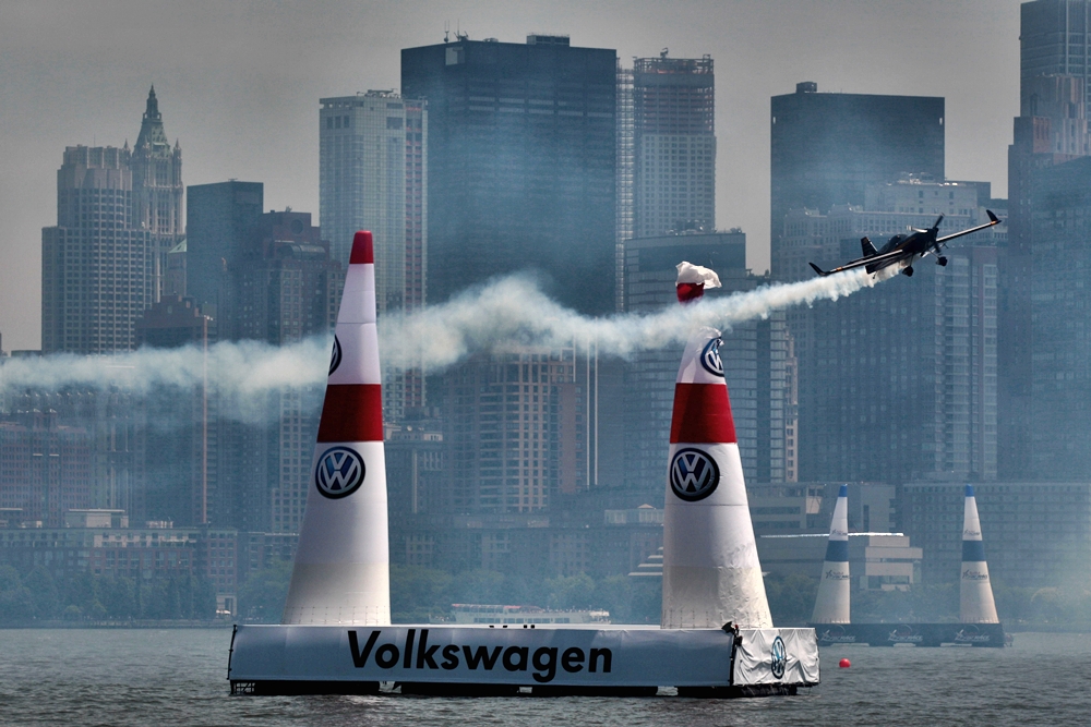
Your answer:
[[[558,300],[614,308],[613,50],[567,36],[401,51],[428,101],[428,299],[536,270]]]

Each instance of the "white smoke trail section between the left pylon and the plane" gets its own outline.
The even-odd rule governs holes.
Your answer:
[[[574,340],[594,341],[600,354],[627,358],[636,351],[685,342],[698,326],[730,329],[768,317],[772,311],[850,295],[874,286],[878,278],[856,269],[708,298],[694,305],[671,305],[647,315],[594,318],[562,307],[529,280],[512,277],[420,313],[387,315],[380,322],[380,343],[384,363],[422,366],[425,372],[445,368],[478,351],[571,346]]]

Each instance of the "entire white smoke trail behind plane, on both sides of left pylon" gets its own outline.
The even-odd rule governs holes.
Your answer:
[[[600,354],[628,356],[684,342],[696,326],[721,328],[763,318],[770,312],[818,300],[837,300],[874,286],[863,270],[801,282],[758,288],[745,293],[671,305],[649,315],[621,314],[595,318],[562,307],[525,278],[504,278],[470,290],[448,303],[408,315],[387,315],[380,323],[384,365],[444,369],[466,356],[513,346],[560,347],[595,341]],[[328,337],[286,347],[254,341],[221,342],[207,354],[195,347],[141,349],[111,356],[59,354],[8,359],[0,364],[0,398],[20,391],[65,389],[133,393],[200,386],[207,371],[212,390],[230,400],[228,415],[260,419],[260,397],[285,387],[322,385],[329,360]],[[2,401],[0,401],[2,403]]]

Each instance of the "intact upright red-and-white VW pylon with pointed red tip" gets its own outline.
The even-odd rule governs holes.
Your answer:
[[[281,623],[391,622],[375,259],[357,232]]]

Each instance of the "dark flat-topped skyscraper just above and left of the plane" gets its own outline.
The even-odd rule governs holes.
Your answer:
[[[772,97],[772,275],[784,270],[782,231],[790,209],[863,205],[870,183],[901,172],[944,180],[944,99],[819,94],[818,84]]]

